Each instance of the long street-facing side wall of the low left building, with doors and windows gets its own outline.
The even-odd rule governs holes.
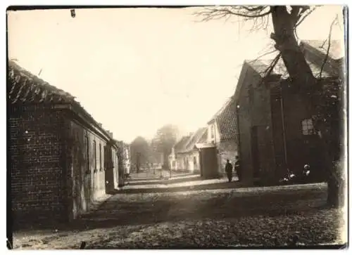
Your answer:
[[[70,113],[68,127],[68,214],[77,218],[118,186],[118,160],[108,139],[89,129]]]

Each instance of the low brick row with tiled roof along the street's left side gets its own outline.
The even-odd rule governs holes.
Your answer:
[[[69,93],[8,62],[8,185],[13,221],[70,221],[118,188],[129,146]]]

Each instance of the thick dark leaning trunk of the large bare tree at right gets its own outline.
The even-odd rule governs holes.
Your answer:
[[[272,6],[272,24],[274,27],[274,34],[271,38],[275,41],[275,48],[280,51],[284,65],[287,67],[289,77],[296,87],[294,91],[304,95],[303,101],[311,115],[324,116],[325,112],[319,112],[319,101],[315,96],[318,94],[318,98],[321,96],[317,85],[317,79],[313,76],[312,70],[304,57],[303,52],[298,46],[294,34],[294,25],[296,24],[295,15],[288,13],[286,6]],[[318,90],[318,92],[317,92]],[[319,114],[320,113],[320,114]],[[327,172],[327,183],[328,183],[328,196],[327,203],[333,207],[339,207],[341,205],[341,188],[344,188],[343,181],[337,174],[337,167],[334,164],[335,160],[333,153],[329,148],[329,131],[322,132],[322,140],[325,152],[324,165],[325,171]],[[321,169],[323,171],[323,169]]]

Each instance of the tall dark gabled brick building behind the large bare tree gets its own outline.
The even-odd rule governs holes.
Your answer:
[[[327,65],[320,77],[326,55],[323,42],[301,43],[313,74],[327,86],[339,79],[341,73],[341,58],[336,57],[337,51],[341,51],[339,45],[338,41],[332,41]],[[304,164],[310,164],[317,180],[324,178],[322,140],[313,129],[314,117],[302,96],[294,92],[295,86],[282,60],[263,81],[269,63],[244,61],[234,94],[244,182],[253,185],[258,180],[269,185],[278,181],[287,169],[301,171]]]

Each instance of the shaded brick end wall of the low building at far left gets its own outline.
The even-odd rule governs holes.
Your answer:
[[[11,202],[16,223],[63,219],[63,118],[47,107],[9,108]]]

